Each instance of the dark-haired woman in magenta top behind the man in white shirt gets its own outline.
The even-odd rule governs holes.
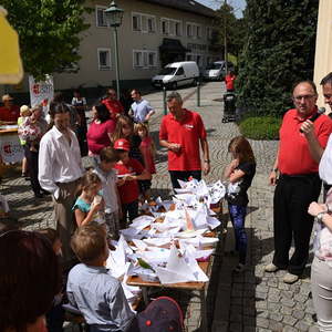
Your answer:
[[[111,145],[111,137],[115,131],[115,121],[111,118],[105,105],[93,106],[93,122],[91,123],[86,138],[89,155],[98,155],[102,148]]]

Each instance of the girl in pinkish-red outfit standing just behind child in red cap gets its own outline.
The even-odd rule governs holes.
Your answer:
[[[142,142],[139,145],[139,151],[143,155],[145,169],[148,170],[149,174],[156,174],[156,166],[155,166],[155,145],[152,137],[148,135],[148,127],[146,124],[138,123],[135,124],[135,134],[137,134]],[[141,191],[144,195],[146,200],[151,198],[151,185],[152,181],[149,180],[142,180],[139,183]]]

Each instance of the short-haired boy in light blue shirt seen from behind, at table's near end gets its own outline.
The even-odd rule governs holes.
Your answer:
[[[81,261],[69,273],[71,305],[82,312],[91,332],[125,331],[134,313],[121,282],[104,267],[110,252],[105,229],[96,222],[84,225],[76,229],[71,246]]]

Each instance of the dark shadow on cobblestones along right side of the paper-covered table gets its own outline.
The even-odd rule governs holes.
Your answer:
[[[256,290],[262,282],[261,278],[256,277],[256,267],[273,250],[273,238],[260,240],[256,237],[253,228],[246,228],[249,241],[247,268],[242,273],[236,273],[234,268],[238,263],[238,256],[227,253],[235,249],[234,229],[230,224],[228,226],[230,227],[227,227],[225,255],[217,274],[219,284],[215,294],[210,331],[256,331],[256,317],[259,313],[256,309],[257,303],[267,301],[267,294]]]

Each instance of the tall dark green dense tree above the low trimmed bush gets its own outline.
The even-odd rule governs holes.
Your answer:
[[[312,79],[319,0],[248,0],[239,105],[258,114],[292,106],[292,85]]]

